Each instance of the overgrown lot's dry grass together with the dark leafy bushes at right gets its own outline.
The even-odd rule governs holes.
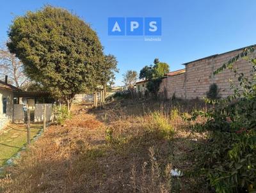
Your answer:
[[[84,112],[77,106],[72,119],[51,126],[17,166],[6,169],[0,190],[255,191],[256,60],[244,58],[252,52],[246,49],[223,65],[239,82],[225,99],[122,97],[104,109]],[[232,68],[241,58],[252,62],[252,79]],[[173,176],[172,169],[183,176]]]

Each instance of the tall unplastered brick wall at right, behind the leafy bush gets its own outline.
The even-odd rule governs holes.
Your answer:
[[[233,58],[243,49],[234,50],[225,54],[214,55],[208,58],[199,59],[186,64],[186,72],[178,75],[168,76],[166,82],[161,83],[161,89],[167,86],[168,98],[175,96],[180,98],[203,98],[209,91],[209,86],[216,83],[220,88],[221,97],[232,95],[230,90],[230,81],[233,80],[237,84],[237,77],[234,77],[234,72],[225,69],[223,72],[213,75],[213,72],[220,68],[228,59]],[[253,54],[256,56],[256,54]],[[244,76],[252,78],[252,64],[246,60],[241,59],[234,64],[237,72],[243,72]]]

